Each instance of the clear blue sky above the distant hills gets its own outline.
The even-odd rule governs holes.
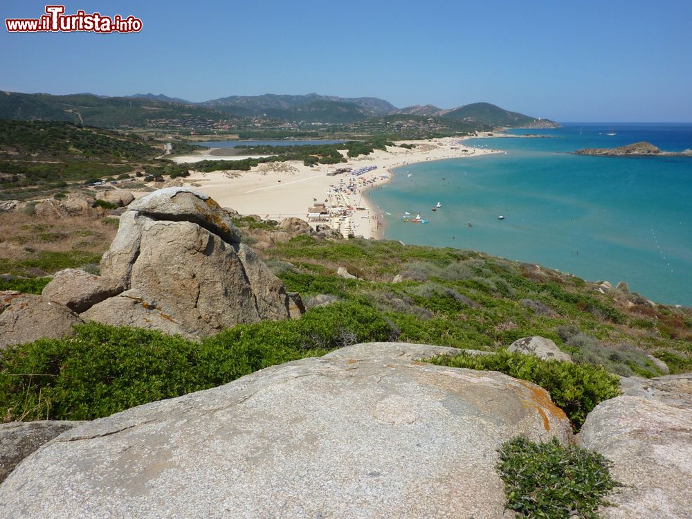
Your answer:
[[[561,122],[692,122],[692,1],[66,1],[139,33],[8,33],[0,90],[203,101],[310,92],[486,101]]]

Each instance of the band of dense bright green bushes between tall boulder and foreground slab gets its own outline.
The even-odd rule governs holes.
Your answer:
[[[355,303],[313,309],[300,320],[239,325],[201,343],[97,323],[75,329],[73,338],[3,352],[3,421],[92,420],[336,347],[386,340],[392,331],[374,309]]]

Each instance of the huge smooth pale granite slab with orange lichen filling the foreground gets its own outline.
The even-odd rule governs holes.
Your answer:
[[[497,448],[566,444],[538,386],[374,343],[95,420],[0,486],[0,516],[502,518]]]

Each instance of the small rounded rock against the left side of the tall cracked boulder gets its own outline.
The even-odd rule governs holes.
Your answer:
[[[117,294],[118,286],[112,280],[75,268],[56,273],[42,291],[44,298],[64,304],[77,313]]]

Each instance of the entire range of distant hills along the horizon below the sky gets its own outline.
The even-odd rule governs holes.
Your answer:
[[[280,122],[348,124],[394,114],[430,116],[493,127],[554,127],[557,123],[508,111],[488,102],[441,109],[426,104],[398,109],[379,98],[340,98],[335,95],[231,95],[191,102],[164,94],[136,93],[123,97],[93,94],[0,93],[0,118],[66,120],[100,127],[144,127],[156,121],[266,118]]]

